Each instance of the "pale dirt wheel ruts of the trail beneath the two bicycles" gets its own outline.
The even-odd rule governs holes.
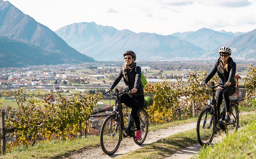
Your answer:
[[[245,112],[245,113],[240,113],[240,115],[245,115],[248,113],[252,113],[252,112]],[[69,157],[64,158],[64,159],[111,159],[114,158],[116,156],[122,155],[122,154],[126,154],[128,152],[134,151],[136,149],[140,149],[141,147],[144,147],[148,144],[151,144],[155,141],[160,140],[161,138],[166,138],[168,136],[171,136],[175,133],[180,133],[182,131],[186,131],[192,128],[196,128],[197,123],[193,122],[193,123],[186,123],[186,124],[182,124],[182,125],[178,125],[175,127],[169,127],[169,128],[165,128],[165,129],[159,129],[157,131],[154,132],[150,132],[148,133],[147,139],[144,142],[144,144],[142,145],[137,145],[133,142],[133,138],[123,138],[119,149],[117,150],[117,152],[111,156],[108,156],[106,154],[104,154],[101,150],[101,147],[98,148],[94,148],[94,149],[87,149],[84,150],[81,153],[78,154],[71,154]],[[221,140],[221,136],[215,136],[213,139],[213,143],[218,142]],[[190,147],[187,147],[181,151],[178,151],[177,153],[171,155],[170,157],[168,157],[167,159],[187,159],[187,158],[191,158],[193,156],[193,154],[197,154],[197,152],[202,148],[202,146],[200,144],[195,144],[192,145]]]

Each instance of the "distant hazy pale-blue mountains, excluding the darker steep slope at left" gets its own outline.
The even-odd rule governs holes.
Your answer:
[[[249,45],[249,39],[236,39],[243,35],[254,35],[254,32],[227,32],[214,31],[202,28],[198,31],[174,33],[168,36],[155,33],[135,33],[129,30],[117,30],[112,26],[101,26],[95,22],[81,22],[64,26],[55,31],[64,41],[81,53],[95,58],[96,60],[120,60],[122,53],[133,50],[142,60],[164,60],[182,58],[216,58],[219,47],[229,46],[234,52],[235,58],[245,58],[235,52],[243,51]],[[232,45],[236,39],[238,44],[244,44],[244,49],[237,49]],[[231,41],[231,42],[229,42]],[[246,45],[245,45],[246,44]],[[248,45],[247,45],[248,44]],[[252,42],[250,48],[256,47]],[[254,52],[253,49],[250,51]],[[219,55],[217,55],[219,56]]]

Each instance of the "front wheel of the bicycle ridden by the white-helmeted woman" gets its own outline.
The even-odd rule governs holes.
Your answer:
[[[204,109],[197,120],[197,140],[199,144],[202,146],[211,144],[213,141],[215,126],[215,115],[212,109]]]

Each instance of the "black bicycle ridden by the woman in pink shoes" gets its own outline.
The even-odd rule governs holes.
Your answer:
[[[149,115],[145,110],[148,108],[148,105],[144,104],[138,113],[140,128],[142,129],[143,134],[140,140],[135,140],[136,128],[131,112],[128,114],[128,126],[124,127],[123,105],[119,97],[123,93],[127,93],[129,96],[131,95],[128,91],[119,92],[117,89],[115,89],[114,92],[109,92],[110,96],[115,100],[115,105],[113,106],[113,112],[105,119],[101,126],[100,142],[102,151],[107,155],[112,155],[119,148],[123,137],[132,137],[134,142],[138,145],[144,143],[149,129]],[[113,96],[116,96],[117,98],[114,98]]]

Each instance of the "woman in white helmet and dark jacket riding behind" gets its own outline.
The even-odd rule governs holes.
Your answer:
[[[236,83],[234,79],[236,63],[230,57],[231,49],[229,47],[223,46],[219,48],[219,55],[220,57],[218,61],[213,65],[211,72],[203,81],[200,82],[200,84],[202,84],[203,82],[207,83],[214,76],[214,74],[218,72],[220,84],[216,91],[218,117],[220,118],[219,108],[224,99],[224,106],[226,110],[225,122],[229,122],[229,96],[232,96],[236,90]]]

